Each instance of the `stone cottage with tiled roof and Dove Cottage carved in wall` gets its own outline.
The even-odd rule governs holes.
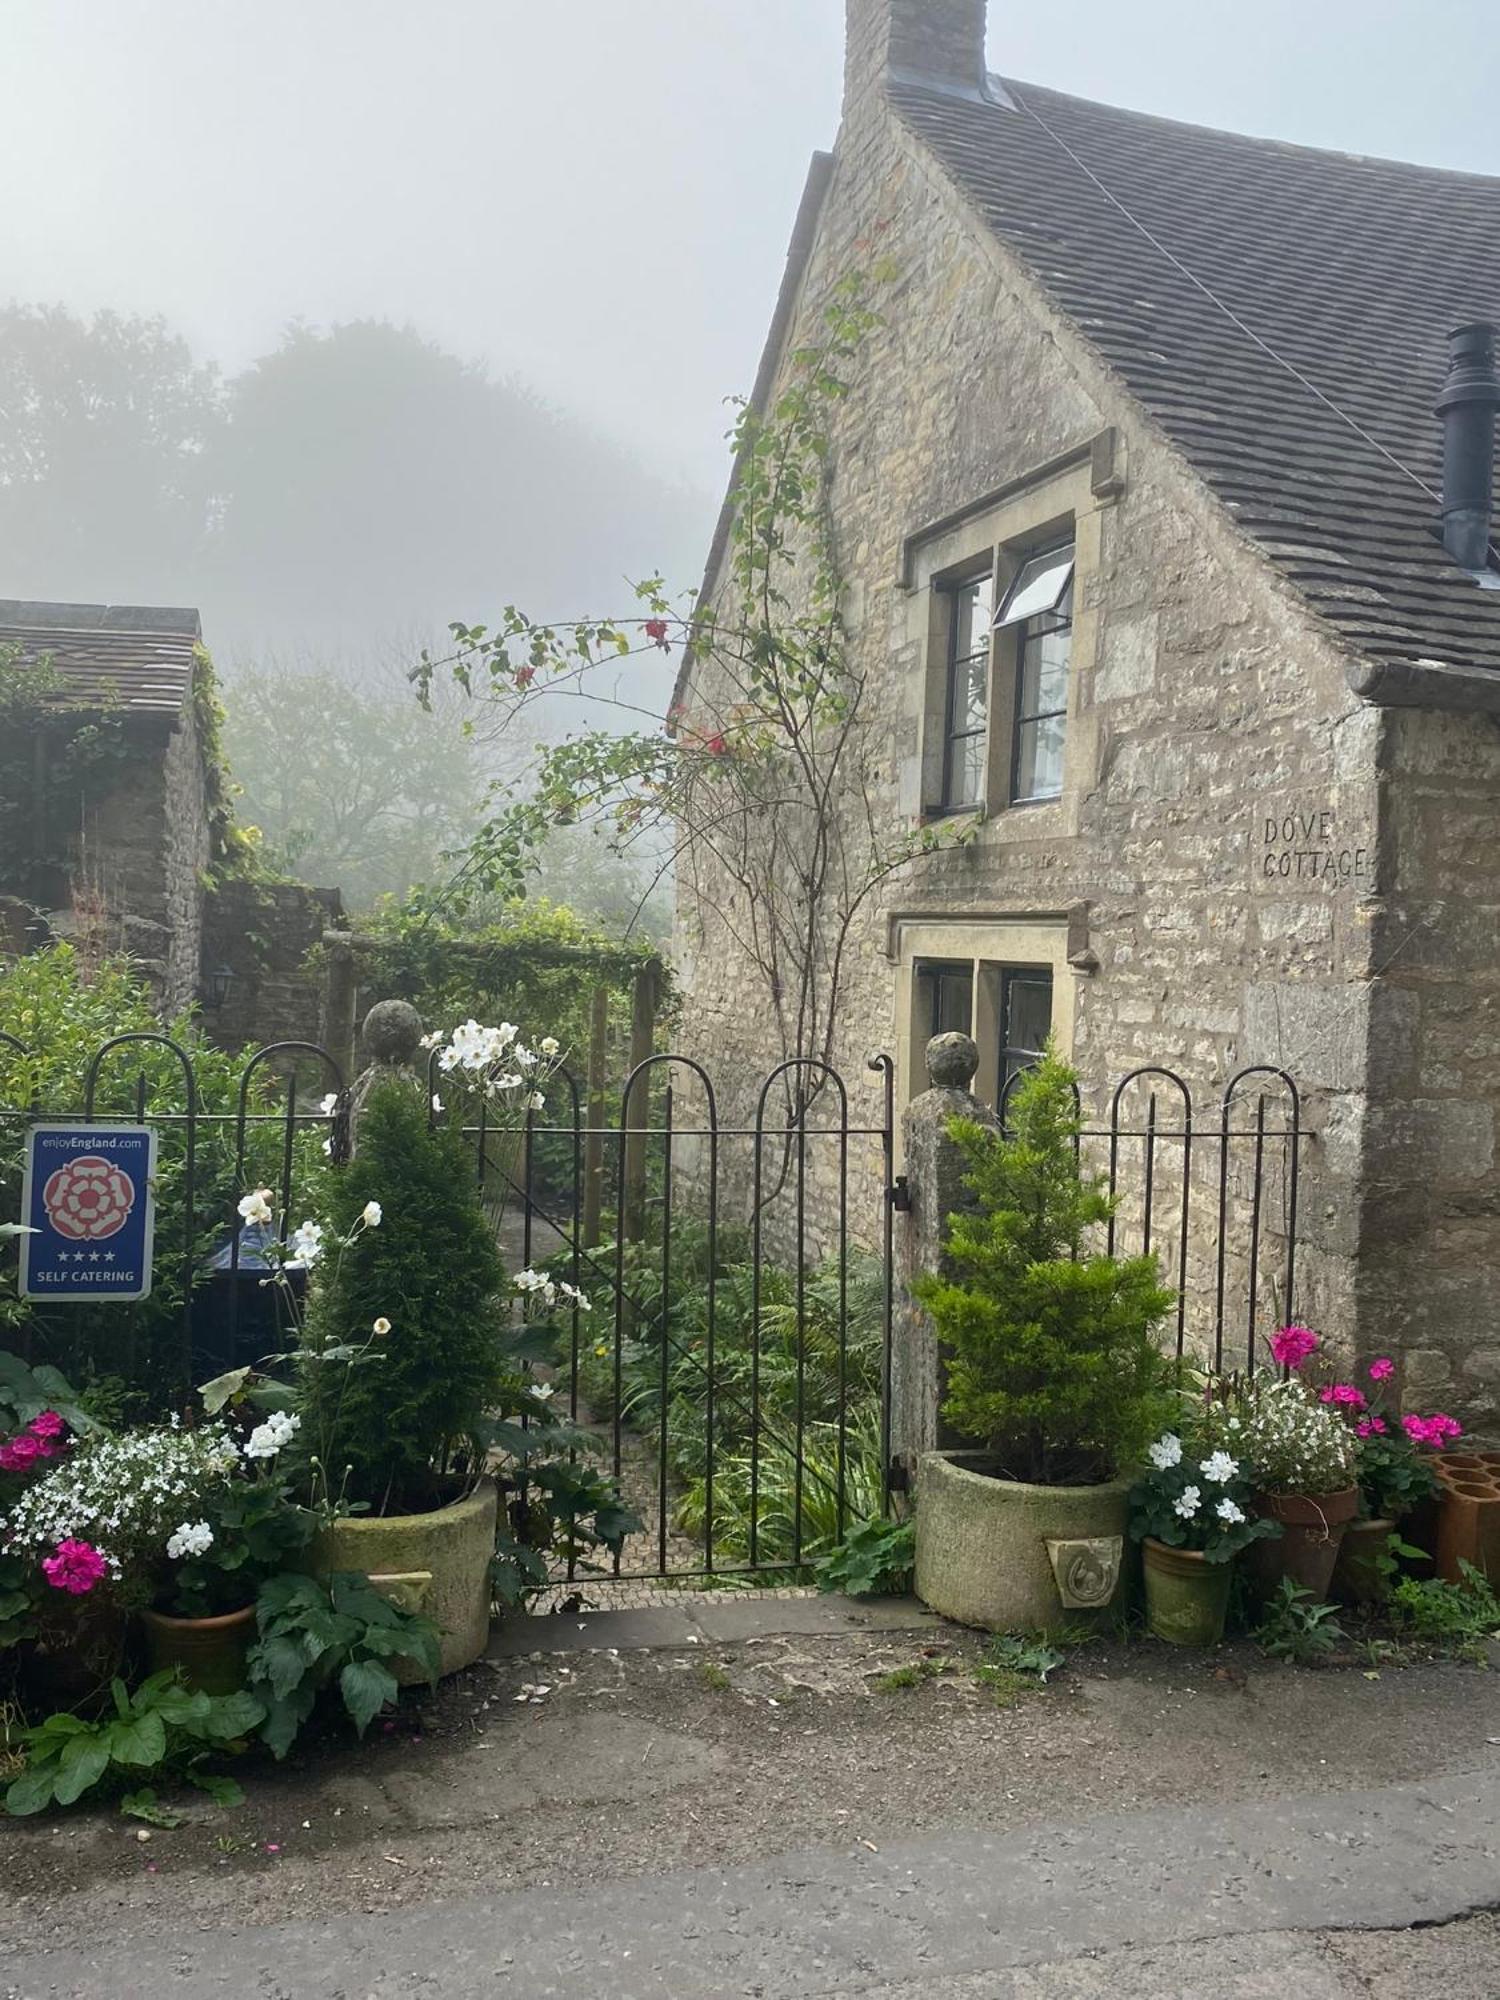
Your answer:
[[[888,266],[828,504],[878,808],[974,838],[862,918],[840,1066],[904,1100],[966,1028],[992,1100],[1050,1032],[1094,1110],[1288,1070],[1302,1314],[1494,1420],[1500,180],[996,78],[984,14],[848,0],[756,386]],[[764,1074],[712,898],[678,960],[686,1046]]]

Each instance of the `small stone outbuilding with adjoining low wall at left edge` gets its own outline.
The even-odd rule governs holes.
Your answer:
[[[164,1018],[202,1000],[226,1048],[316,1038],[302,962],[342,904],[224,866],[232,808],[198,612],[2,598],[0,658],[48,674],[28,742],[6,746],[0,950],[60,936],[126,952]]]

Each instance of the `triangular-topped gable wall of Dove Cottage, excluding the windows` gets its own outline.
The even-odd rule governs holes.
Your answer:
[[[1316,1130],[1302,1162],[1298,1310],[1356,1344],[1378,718],[1348,692],[1322,628],[1080,332],[878,90],[854,88],[788,350],[816,338],[830,286],[868,268],[872,246],[894,280],[878,288],[884,324],[834,420],[830,500],[890,832],[912,824],[924,796],[934,626],[922,564],[930,574],[960,562],[966,536],[972,554],[1008,516],[1000,506],[932,548],[922,530],[1074,454],[1058,492],[1078,538],[1078,616],[1066,798],[992,812],[972,846],[892,878],[858,926],[838,1048],[854,1116],[878,1110],[866,1050],[902,1052],[908,1040],[906,918],[1052,926],[1070,942],[1060,978],[1090,1110],[1142,1062],[1170,1064],[1210,1102],[1244,1064],[1294,1072]],[[1108,432],[1114,466],[1100,480],[1090,446]],[[688,706],[714,706],[702,668]],[[720,900],[712,884],[684,896],[678,970],[682,1040],[724,1080],[728,1122],[746,1112],[736,1078],[748,1096],[778,1052],[764,982]],[[1086,948],[1072,950],[1080,938]],[[906,1064],[902,1094],[912,1088]],[[1196,1200],[1212,1204],[1210,1148],[1196,1182]],[[866,1234],[876,1200],[872,1176],[856,1216]],[[1264,1220],[1274,1238],[1278,1206]],[[1268,1318],[1282,1304],[1278,1268],[1272,1240]],[[1202,1262],[1190,1282],[1202,1304]]]

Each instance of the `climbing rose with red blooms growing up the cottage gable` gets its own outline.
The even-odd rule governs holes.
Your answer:
[[[516,892],[554,826],[604,824],[620,846],[666,836],[680,882],[758,974],[784,1056],[834,1054],[860,912],[914,854],[966,838],[890,826],[880,732],[848,644],[828,524],[832,414],[850,396],[878,324],[870,286],[836,284],[818,338],[792,354],[766,408],[734,426],[736,474],[724,588],[674,606],[660,578],[628,618],[452,626],[438,672],[520,714],[548,690],[592,684],[622,656],[688,652],[664,728],[588,730],[544,752],[524,796],[504,792],[468,846],[450,896]]]

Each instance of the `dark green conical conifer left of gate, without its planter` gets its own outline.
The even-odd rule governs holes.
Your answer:
[[[456,1126],[434,1128],[406,1082],[378,1084],[358,1154],[334,1176],[330,1230],[352,1238],[314,1292],[302,1356],[308,1436],[348,1494],[404,1512],[468,1454],[500,1380],[500,1254]],[[380,1228],[356,1230],[374,1202]],[[376,1366],[320,1362],[364,1350],[388,1320]]]

